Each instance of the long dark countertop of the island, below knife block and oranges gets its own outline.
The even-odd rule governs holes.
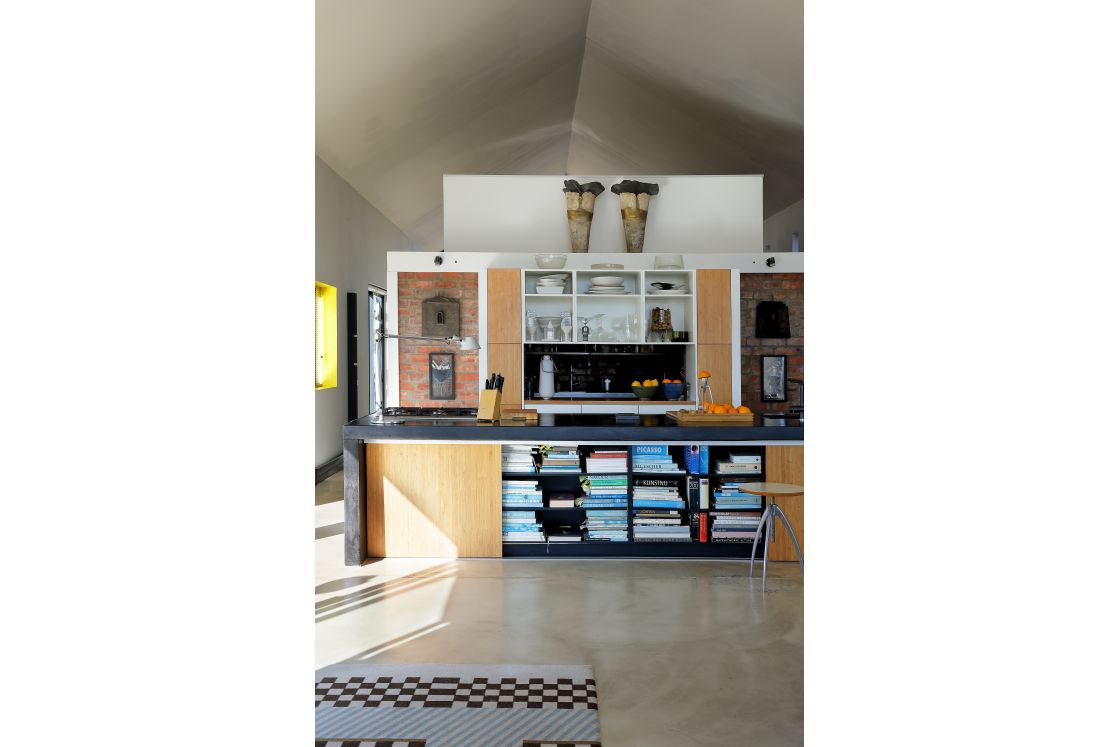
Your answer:
[[[503,420],[405,420],[380,422],[365,415],[343,426],[347,440],[451,440],[451,441],[801,441],[805,429],[795,418],[764,419],[755,414],[752,426],[708,423],[682,426],[659,414],[559,414],[540,413],[539,422]]]

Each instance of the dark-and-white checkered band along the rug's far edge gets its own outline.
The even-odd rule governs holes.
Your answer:
[[[592,679],[320,676],[316,708],[598,709]]]

